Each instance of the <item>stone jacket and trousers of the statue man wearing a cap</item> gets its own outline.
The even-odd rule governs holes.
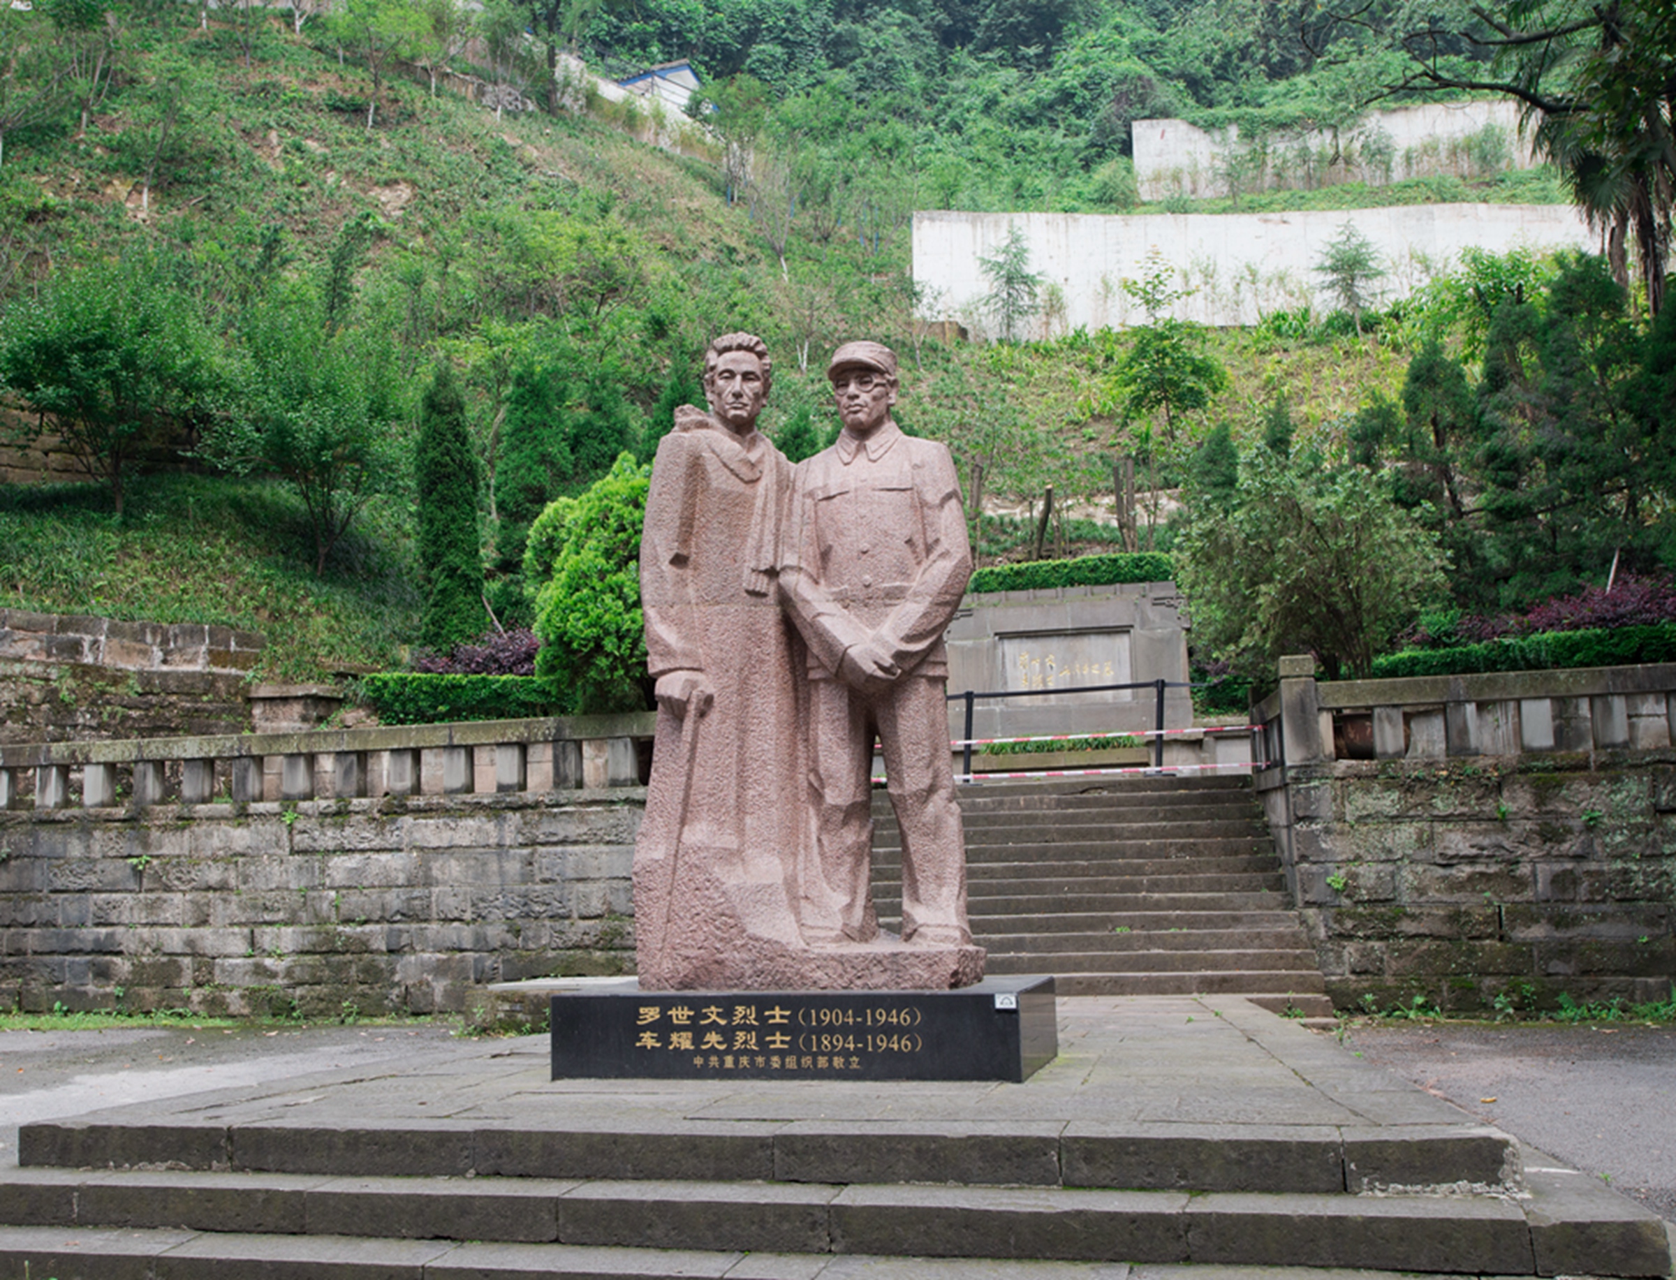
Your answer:
[[[877,935],[868,891],[873,730],[902,828],[902,935],[959,930],[965,848],[949,761],[944,630],[960,606],[972,551],[949,449],[885,421],[848,429],[798,464],[781,586],[808,643],[810,752],[821,885],[803,885],[811,942]],[[845,650],[877,638],[903,672],[877,689],[840,679]],[[942,928],[939,930],[942,933]]]

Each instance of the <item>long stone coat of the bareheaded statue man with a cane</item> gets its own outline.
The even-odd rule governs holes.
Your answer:
[[[702,672],[706,715],[659,710],[635,849],[644,987],[749,987],[763,953],[801,947],[793,908],[801,643],[774,585],[791,464],[696,410],[664,437],[640,543],[652,677]]]

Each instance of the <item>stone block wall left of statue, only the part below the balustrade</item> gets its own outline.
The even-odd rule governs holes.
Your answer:
[[[469,1010],[634,967],[644,791],[0,813],[0,1007]]]

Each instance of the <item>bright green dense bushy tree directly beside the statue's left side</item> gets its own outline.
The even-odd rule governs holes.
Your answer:
[[[645,710],[640,531],[652,469],[622,454],[575,499],[530,529],[525,581],[535,586],[536,675],[577,714]],[[541,575],[543,561],[551,573]]]

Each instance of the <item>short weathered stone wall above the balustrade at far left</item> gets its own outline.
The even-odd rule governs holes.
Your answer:
[[[263,643],[231,627],[0,610],[0,744],[248,729]]]

